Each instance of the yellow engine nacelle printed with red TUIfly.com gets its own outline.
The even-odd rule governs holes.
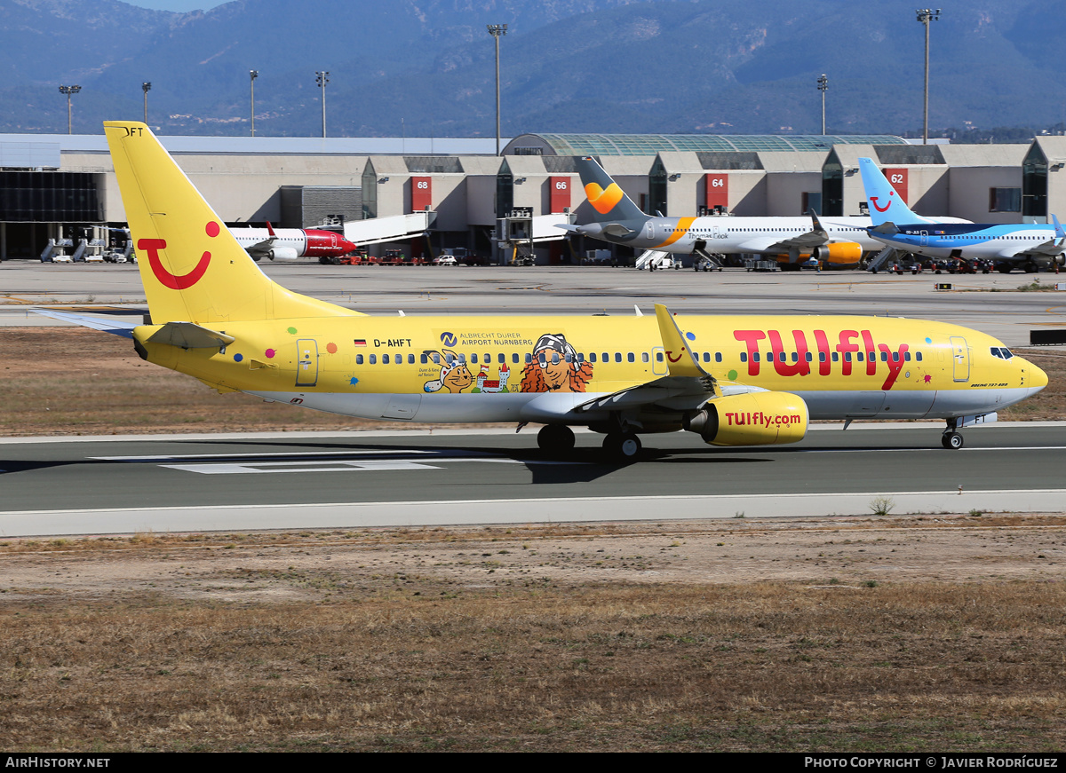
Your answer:
[[[710,445],[782,445],[806,437],[809,417],[802,397],[750,392],[712,400],[685,416],[682,426]]]

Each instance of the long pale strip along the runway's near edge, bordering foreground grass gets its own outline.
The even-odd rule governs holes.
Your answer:
[[[870,491],[844,494],[723,496],[593,496],[449,501],[354,501],[303,505],[206,505],[0,512],[4,537],[56,537],[154,531],[370,528],[625,521],[712,521],[759,517],[876,517],[871,504],[893,503],[893,514],[1066,512],[1066,489],[1035,491]]]

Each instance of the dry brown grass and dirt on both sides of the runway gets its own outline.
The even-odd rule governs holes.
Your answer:
[[[1063,418],[1027,356],[1001,418]],[[93,331],[0,366],[4,435],[367,426]],[[1056,751],[1064,565],[975,512],[0,541],[0,749]]]

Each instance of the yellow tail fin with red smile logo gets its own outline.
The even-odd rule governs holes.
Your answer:
[[[103,129],[152,322],[358,314],[269,279],[147,126],[106,121]]]

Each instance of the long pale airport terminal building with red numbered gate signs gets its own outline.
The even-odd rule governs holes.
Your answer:
[[[592,219],[581,155],[649,214],[862,214],[860,157],[922,214],[1047,223],[1066,203],[1063,136],[923,146],[889,135],[522,134],[500,157],[492,138],[160,139],[231,226],[341,227],[429,210],[430,231],[401,245],[410,253],[465,247],[498,261],[624,249],[553,227]],[[50,240],[100,247],[125,239],[109,230],[125,220],[102,134],[0,135],[0,260],[37,259]]]

